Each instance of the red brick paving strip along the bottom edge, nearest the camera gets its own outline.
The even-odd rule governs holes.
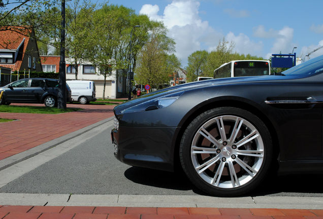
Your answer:
[[[1,219],[319,219],[323,210],[262,208],[155,208],[0,206]]]

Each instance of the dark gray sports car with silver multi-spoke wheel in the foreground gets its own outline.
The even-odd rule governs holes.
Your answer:
[[[115,156],[237,196],[270,172],[323,172],[323,56],[280,76],[187,83],[114,108]]]

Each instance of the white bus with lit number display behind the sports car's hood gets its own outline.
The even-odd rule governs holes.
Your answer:
[[[214,70],[214,78],[270,75],[268,60],[235,60]]]

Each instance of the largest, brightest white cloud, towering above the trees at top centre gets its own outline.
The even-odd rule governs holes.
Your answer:
[[[207,21],[202,21],[199,7],[197,0],[173,0],[165,7],[163,15],[158,15],[157,5],[144,5],[139,13],[148,15],[152,20],[164,22],[169,29],[168,35],[176,42],[177,57],[186,65],[187,57],[191,53],[204,49],[204,45],[214,47],[223,37]]]

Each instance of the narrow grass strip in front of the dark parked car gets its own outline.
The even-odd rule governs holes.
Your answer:
[[[17,106],[0,105],[0,113],[33,113],[33,114],[60,114],[82,110],[81,108],[59,109],[46,106]]]

